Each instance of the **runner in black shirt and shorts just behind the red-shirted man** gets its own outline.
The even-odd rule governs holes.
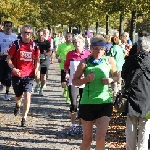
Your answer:
[[[47,59],[48,56],[50,56],[50,42],[48,40],[45,40],[44,37],[44,31],[43,30],[38,30],[37,32],[38,39],[35,40],[34,42],[38,44],[40,48],[40,75],[41,76],[36,76],[36,87],[34,92],[38,92],[38,88],[40,88],[39,95],[43,96],[43,87],[46,84],[46,72],[48,71],[47,67]],[[41,83],[40,83],[41,82]]]

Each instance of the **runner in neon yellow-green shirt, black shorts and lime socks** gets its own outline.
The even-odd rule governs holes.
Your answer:
[[[61,70],[61,86],[64,88],[64,97],[66,97],[66,103],[70,104],[69,94],[68,94],[68,87],[66,86],[66,72],[64,71],[64,62],[66,60],[66,55],[69,51],[74,50],[74,45],[72,43],[72,34],[66,34],[66,42],[62,43],[58,46],[58,50],[56,51],[56,58],[60,63],[60,70]]]

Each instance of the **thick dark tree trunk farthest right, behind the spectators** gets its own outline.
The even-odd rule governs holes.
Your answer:
[[[132,43],[135,43],[135,30],[136,30],[136,11],[132,11],[130,39]]]

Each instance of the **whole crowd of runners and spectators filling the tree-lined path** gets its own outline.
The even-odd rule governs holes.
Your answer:
[[[113,101],[122,90],[122,81],[128,89],[142,72],[128,93],[126,149],[148,150],[150,39],[147,32],[140,31],[136,43],[132,43],[127,32],[121,36],[118,33],[103,36],[87,30],[84,36],[68,32],[63,38],[57,33],[51,37],[48,29],[40,29],[37,39],[32,37],[32,32],[30,25],[24,25],[17,36],[12,33],[10,21],[4,22],[3,32],[0,32],[0,89],[6,87],[4,100],[10,101],[9,89],[13,87],[15,116],[24,97],[21,126],[27,125],[33,85],[36,84],[34,92],[44,96],[49,65],[56,56],[63,96],[70,109],[67,134],[83,134],[80,149],[90,150],[95,125],[96,150],[104,150]]]

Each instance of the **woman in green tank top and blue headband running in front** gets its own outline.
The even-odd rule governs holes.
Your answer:
[[[96,149],[105,149],[105,135],[113,109],[109,84],[118,81],[115,60],[105,56],[105,44],[101,36],[91,39],[91,55],[80,62],[73,79],[76,86],[85,84],[79,108],[83,125],[81,150],[90,150],[93,121],[97,127]],[[109,78],[110,71],[112,78]],[[83,74],[85,77],[81,79]]]

